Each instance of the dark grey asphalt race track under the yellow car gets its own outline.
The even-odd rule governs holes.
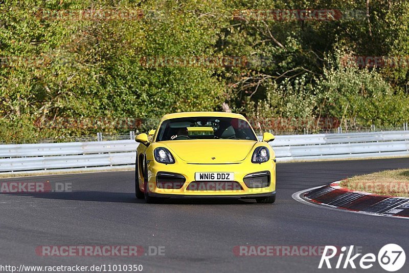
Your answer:
[[[348,176],[409,166],[409,159],[277,165],[277,202],[134,198],[134,172],[1,179],[72,183],[73,192],[0,194],[0,264],[142,264],[143,271],[314,272],[320,257],[237,257],[234,246],[349,246],[374,253],[396,243],[409,256],[409,219],[334,211],[299,203],[295,192]],[[164,256],[41,257],[44,245],[164,246]],[[336,259],[336,258],[334,258]],[[409,262],[400,271],[407,272]],[[333,266],[336,260],[333,261]],[[359,262],[358,262],[359,263]],[[356,271],[349,267],[321,271]],[[370,270],[386,272],[374,263]]]

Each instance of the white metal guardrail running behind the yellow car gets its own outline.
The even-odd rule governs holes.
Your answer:
[[[409,131],[285,135],[270,144],[278,161],[402,157],[409,156]],[[137,146],[134,140],[0,145],[0,173],[133,167]]]

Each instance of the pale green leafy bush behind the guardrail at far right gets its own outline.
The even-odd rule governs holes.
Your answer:
[[[341,120],[344,128],[396,126],[407,120],[409,98],[394,92],[375,69],[359,69],[343,63],[338,52],[317,80],[320,110]]]

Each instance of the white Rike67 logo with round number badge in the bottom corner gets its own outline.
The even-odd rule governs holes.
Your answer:
[[[375,254],[368,253],[358,258],[362,254],[353,255],[354,246],[351,245],[348,248],[348,253],[346,252],[347,247],[341,247],[341,253],[338,256],[335,268],[356,268],[355,263],[359,265],[362,269],[371,268],[376,261],[379,265],[387,271],[397,271],[405,264],[406,255],[402,247],[397,244],[387,244],[384,245],[376,257]],[[325,246],[324,253],[321,256],[320,264],[318,268],[332,268],[330,259],[334,258],[337,255],[337,248],[335,246]],[[346,258],[344,260],[344,256]],[[352,256],[353,255],[353,256]],[[325,265],[324,265],[325,264]]]

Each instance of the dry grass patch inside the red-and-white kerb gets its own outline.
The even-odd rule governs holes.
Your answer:
[[[354,176],[339,185],[353,191],[409,197],[409,169]]]

